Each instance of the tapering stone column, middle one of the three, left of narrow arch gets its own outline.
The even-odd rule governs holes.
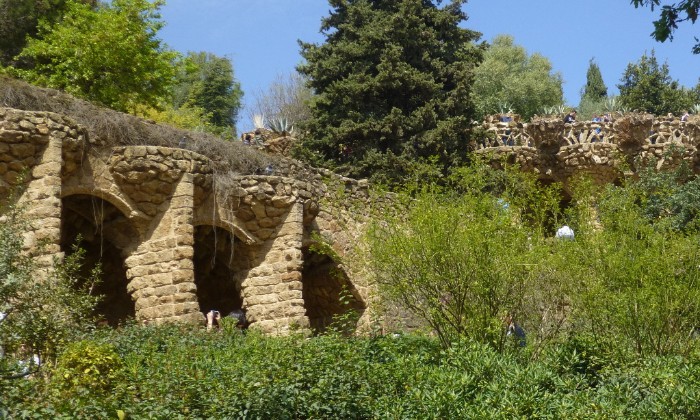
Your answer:
[[[127,290],[136,319],[146,322],[203,322],[194,284],[192,174],[185,173],[161,204],[148,238],[126,259]]]

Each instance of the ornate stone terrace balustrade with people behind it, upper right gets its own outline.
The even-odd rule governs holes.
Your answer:
[[[477,153],[490,155],[494,165],[518,163],[540,179],[566,187],[576,174],[599,183],[614,182],[624,171],[655,160],[661,168],[685,160],[700,173],[700,117],[687,122],[649,114],[625,114],[608,122],[560,119],[531,123],[486,121],[489,133],[476,142]]]

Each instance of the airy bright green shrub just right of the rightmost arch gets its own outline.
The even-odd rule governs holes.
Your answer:
[[[426,192],[407,214],[377,223],[369,258],[380,296],[425,320],[444,345],[467,337],[502,350],[507,314],[524,320],[531,303],[542,222],[558,199],[515,171],[486,171],[465,169],[456,196]]]

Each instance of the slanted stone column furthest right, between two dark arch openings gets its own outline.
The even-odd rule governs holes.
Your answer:
[[[263,246],[267,253],[262,263],[243,281],[243,307],[253,321],[252,328],[283,335],[309,327],[301,282],[303,216],[301,203],[290,206],[276,236]]]

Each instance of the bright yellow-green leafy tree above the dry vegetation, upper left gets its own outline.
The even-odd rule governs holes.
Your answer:
[[[156,38],[161,4],[114,0],[93,10],[70,2],[59,24],[39,24],[18,56],[32,65],[15,73],[120,111],[157,106],[169,96],[175,58]]]

